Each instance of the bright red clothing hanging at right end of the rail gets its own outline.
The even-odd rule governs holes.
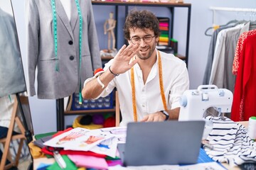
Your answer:
[[[235,81],[231,120],[247,121],[256,115],[256,32],[248,31],[238,43],[238,72]],[[239,52],[239,53],[237,53]],[[236,61],[237,62],[237,61]]]

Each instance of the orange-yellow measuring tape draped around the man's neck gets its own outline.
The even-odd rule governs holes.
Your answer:
[[[161,91],[161,99],[164,105],[164,110],[167,111],[167,104],[166,98],[164,96],[164,82],[163,82],[163,70],[161,66],[161,55],[159,50],[157,50],[159,60],[158,60],[158,67],[159,67],[159,86]],[[132,108],[134,111],[134,122],[137,122],[137,106],[136,106],[136,95],[135,95],[135,81],[134,81],[134,67],[131,69],[131,85],[132,85]]]

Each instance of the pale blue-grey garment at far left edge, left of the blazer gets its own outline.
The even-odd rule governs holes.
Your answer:
[[[0,97],[26,91],[14,17],[0,8]]]

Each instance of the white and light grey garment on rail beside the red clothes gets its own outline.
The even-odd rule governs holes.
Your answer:
[[[213,57],[213,66],[210,72],[209,84],[218,88],[234,90],[235,76],[232,73],[235,47],[244,24],[233,28],[226,28],[218,33]],[[249,24],[246,26],[249,30]]]

